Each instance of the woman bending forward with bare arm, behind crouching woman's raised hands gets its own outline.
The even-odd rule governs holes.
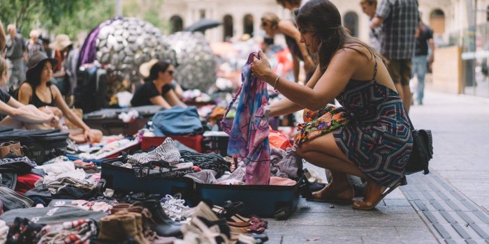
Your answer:
[[[274,38],[276,34],[284,34],[287,47],[289,47],[292,54],[295,82],[299,82],[300,61],[304,61],[307,82],[312,74],[314,74],[316,64],[307,52],[304,43],[300,42],[300,33],[294,22],[291,20],[280,20],[275,13],[265,13],[261,17],[261,29],[263,29],[270,38]]]

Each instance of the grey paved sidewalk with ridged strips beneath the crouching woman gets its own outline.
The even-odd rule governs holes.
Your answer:
[[[484,222],[489,209],[489,99],[427,91],[424,102],[413,106],[410,115],[416,128],[432,130],[433,174],[408,177],[411,184],[388,195],[374,211],[301,199],[289,220],[270,220],[270,243],[489,243],[484,238],[489,234],[489,223]],[[325,178],[323,170],[305,167]],[[437,212],[443,207],[446,211]],[[474,217],[476,210],[479,218]],[[471,221],[479,224],[477,231],[469,227]]]

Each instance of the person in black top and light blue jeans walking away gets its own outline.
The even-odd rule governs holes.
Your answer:
[[[425,75],[428,69],[428,65],[431,66],[435,61],[435,42],[433,41],[433,31],[430,26],[419,22],[418,29],[416,29],[416,51],[412,59],[413,73],[412,78],[416,75],[418,78],[418,85],[416,86],[416,92],[414,98],[418,105],[423,105],[423,97],[425,95]],[[428,46],[430,47],[430,56],[428,56]]]

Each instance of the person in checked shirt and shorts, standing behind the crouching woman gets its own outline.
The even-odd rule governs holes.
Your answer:
[[[370,21],[372,29],[381,26],[380,52],[387,59],[389,73],[407,112],[411,105],[409,80],[418,15],[417,0],[383,0]]]

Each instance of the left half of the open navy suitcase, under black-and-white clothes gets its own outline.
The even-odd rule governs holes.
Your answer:
[[[105,187],[120,192],[146,192],[161,195],[180,196],[187,204],[195,206],[198,199],[194,194],[194,181],[190,178],[136,178],[133,169],[112,165],[119,158],[101,162],[101,178]]]

